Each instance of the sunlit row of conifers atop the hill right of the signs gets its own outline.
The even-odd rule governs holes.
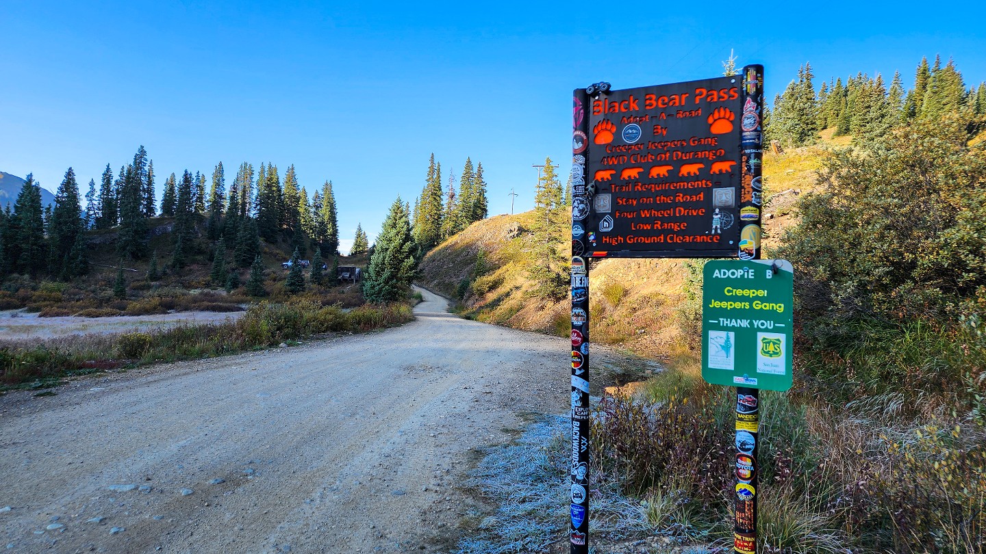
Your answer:
[[[845,82],[839,77],[822,83],[817,94],[807,63],[799,68],[798,79],[774,97],[773,109],[764,108],[764,132],[767,140],[784,146],[811,144],[821,129],[830,127],[835,136],[873,141],[898,125],[934,121],[950,112],[986,115],[986,83],[966,88],[951,59],[943,66],[939,56],[932,65],[922,58],[909,90],[897,71],[889,87],[879,73],[857,73]]]

